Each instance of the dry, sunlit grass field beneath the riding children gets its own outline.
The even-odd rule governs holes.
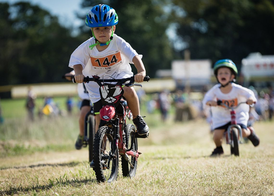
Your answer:
[[[144,112],[145,113],[145,112]],[[74,150],[77,115],[27,122],[6,118],[0,136],[0,195],[273,195],[274,122],[257,122],[260,145],[240,145],[240,156],[210,158],[215,148],[203,119],[163,123],[145,118],[150,137],[139,139],[134,178],[98,183],[88,150]],[[2,138],[5,139],[2,139]],[[17,150],[16,150],[17,149]]]

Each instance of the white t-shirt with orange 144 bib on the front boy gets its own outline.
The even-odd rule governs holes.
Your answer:
[[[69,67],[73,68],[74,65],[82,65],[83,69],[89,67],[89,72],[83,75],[92,77],[98,75],[103,79],[103,75],[111,75],[115,79],[123,79],[133,75],[129,63],[133,63],[132,59],[138,53],[121,37],[113,34],[113,39],[110,41],[109,46],[99,52],[95,47],[90,50],[89,46],[95,44],[95,39],[92,37],[82,43],[72,53],[69,61]],[[142,58],[142,55],[139,55]],[[111,79],[105,76],[104,79]],[[89,97],[92,103],[99,101],[99,85],[96,82],[85,83],[89,91]]]

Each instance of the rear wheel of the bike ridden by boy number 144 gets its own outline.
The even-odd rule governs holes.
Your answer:
[[[138,150],[138,143],[137,138],[134,137],[136,132],[136,128],[134,125],[128,124],[125,127],[125,142],[126,142],[126,148],[129,149],[133,142],[133,147],[131,150],[137,153]],[[134,137],[134,140],[132,141],[132,138]],[[130,157],[130,163],[125,159],[124,156],[121,157],[122,162],[122,173],[124,177],[134,177],[137,169],[137,159],[135,157]]]

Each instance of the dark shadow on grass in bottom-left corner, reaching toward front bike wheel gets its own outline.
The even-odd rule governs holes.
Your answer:
[[[60,178],[56,179],[56,182],[50,181],[49,184],[47,185],[36,185],[36,186],[30,186],[30,187],[22,187],[19,185],[18,187],[10,187],[6,191],[0,190],[0,195],[14,195],[19,192],[27,193],[29,191],[35,191],[35,192],[41,192],[41,191],[47,191],[51,189],[53,186],[62,186],[62,185],[69,185],[71,187],[79,187],[81,184],[85,184],[88,182],[97,182],[96,179],[91,179],[91,178],[85,178],[84,180],[78,180],[78,179],[73,179],[73,180],[68,180],[65,178],[64,180]]]

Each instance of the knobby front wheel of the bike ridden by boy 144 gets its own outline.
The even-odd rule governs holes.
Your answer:
[[[116,180],[119,167],[119,152],[111,128],[100,127],[93,145],[94,171],[98,181]]]

